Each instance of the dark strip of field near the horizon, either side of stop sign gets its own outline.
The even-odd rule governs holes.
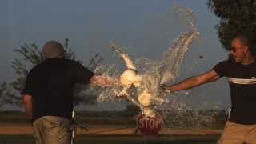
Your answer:
[[[128,108],[123,111],[78,111],[76,121],[94,125],[136,125],[140,111]],[[169,128],[222,129],[226,123],[224,110],[186,110],[181,113],[160,111]],[[21,111],[0,111],[1,122],[30,123]]]

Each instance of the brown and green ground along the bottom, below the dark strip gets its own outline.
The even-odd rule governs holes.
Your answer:
[[[33,130],[30,124],[0,123],[0,144],[32,144]],[[89,131],[77,130],[75,144],[93,143],[181,143],[212,144],[216,143],[222,130],[206,129],[170,129],[164,128],[158,136],[146,137],[134,134],[135,126],[123,125],[90,125]]]

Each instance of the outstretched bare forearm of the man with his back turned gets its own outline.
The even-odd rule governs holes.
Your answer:
[[[101,75],[94,75],[90,78],[90,84],[95,86],[117,86],[119,85],[117,78],[106,77]]]

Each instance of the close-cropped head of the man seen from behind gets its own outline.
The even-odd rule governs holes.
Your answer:
[[[64,48],[57,41],[49,41],[42,48],[42,58],[64,58]]]

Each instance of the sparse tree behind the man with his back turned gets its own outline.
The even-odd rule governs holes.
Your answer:
[[[72,50],[71,47],[69,46],[68,38],[65,39],[63,47],[65,50],[66,59],[72,59],[78,62],[82,62],[76,58],[74,50]],[[17,78],[15,78],[13,82],[9,83],[8,90],[6,92],[7,99],[4,100],[2,99],[3,97],[0,99],[2,99],[3,102],[20,106],[22,102],[20,91],[23,89],[25,85],[26,76],[32,67],[38,65],[43,61],[43,58],[42,58],[41,50],[39,50],[38,46],[34,43],[30,45],[25,44],[21,46],[20,49],[14,50],[14,52],[18,53],[18,55],[21,56],[21,58],[14,58],[14,60],[11,62],[11,67],[13,68],[15,74],[17,74]],[[103,58],[99,58],[99,54],[96,54],[94,58],[91,58],[90,64],[87,67],[90,70],[94,71],[98,66],[98,63],[102,62],[102,60]],[[3,85],[3,87],[6,88],[6,84]],[[75,90],[76,93],[74,94],[74,102],[76,104],[78,102],[89,102],[89,103],[96,102],[95,95],[85,96],[83,95],[83,93],[80,93],[80,90],[84,90],[84,89],[86,89],[86,86],[77,86],[77,89]],[[0,101],[0,106],[1,106],[1,101]]]

